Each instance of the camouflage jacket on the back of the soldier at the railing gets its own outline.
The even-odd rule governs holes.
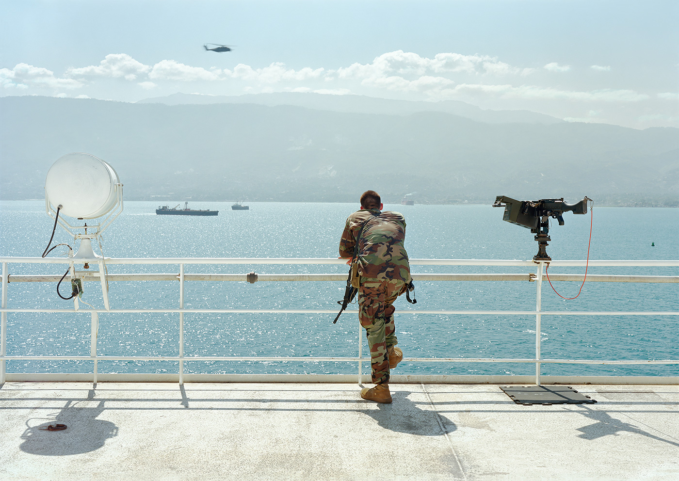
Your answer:
[[[373,218],[375,214],[379,214]],[[351,214],[339,242],[339,256],[352,257],[356,237],[368,222],[359,242],[359,273],[363,277],[411,280],[408,254],[403,247],[405,218],[399,212],[361,209]]]

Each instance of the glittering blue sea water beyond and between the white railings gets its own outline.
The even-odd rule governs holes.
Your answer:
[[[164,202],[166,204],[166,202]],[[103,254],[132,257],[308,257],[337,256],[339,237],[354,204],[194,202],[191,208],[219,216],[158,216],[156,203],[128,201],[103,233]],[[488,206],[401,206],[407,221],[410,258],[530,259],[537,243],[528,229],[502,222],[502,209]],[[677,259],[679,209],[600,208],[564,214],[551,225],[547,253],[554,260]],[[0,256],[40,256],[54,220],[43,201],[0,201]],[[73,239],[57,227],[54,244]],[[73,246],[77,249],[77,246]],[[50,256],[65,255],[59,247]],[[98,246],[95,246],[98,252]],[[64,265],[10,265],[10,273],[62,274]],[[96,266],[93,267],[96,269]],[[535,267],[411,267],[414,273],[526,273]],[[584,273],[585,267],[551,267],[549,273]],[[178,273],[178,265],[109,265],[109,273]],[[185,265],[185,273],[346,273],[345,265]],[[588,274],[678,275],[676,267],[589,267]],[[206,282],[185,284],[186,309],[338,309],[345,282]],[[564,297],[581,282],[558,282]],[[70,295],[70,286],[60,286]],[[677,310],[677,284],[586,282],[574,300],[543,283],[543,310]],[[396,329],[406,358],[534,358],[535,315],[437,315],[426,310],[534,310],[534,282],[418,282],[417,305],[401,296]],[[83,300],[103,308],[100,284],[86,282]],[[111,282],[113,309],[174,309],[179,283]],[[56,283],[10,283],[8,307],[64,308]],[[81,304],[81,308],[88,306]],[[355,307],[355,306],[354,306]],[[354,357],[359,329],[355,313],[186,313],[184,354],[229,356]],[[7,355],[89,355],[90,313],[8,313]],[[679,316],[543,315],[542,356],[547,359],[678,359]],[[178,355],[179,313],[100,313],[99,355]],[[367,344],[363,341],[363,355]],[[364,372],[369,372],[364,363]],[[91,361],[7,361],[7,372],[92,372]],[[99,372],[177,372],[176,361],[100,361]],[[186,361],[185,372],[352,374],[356,363]],[[676,376],[679,366],[542,364],[543,374]],[[399,374],[534,374],[532,364],[403,362]]]

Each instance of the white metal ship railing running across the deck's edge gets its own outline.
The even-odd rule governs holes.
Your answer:
[[[184,314],[185,313],[318,313],[335,314],[335,309],[187,309],[184,307],[185,283],[191,281],[210,281],[210,282],[287,282],[287,281],[346,281],[346,274],[258,274],[256,280],[253,275],[243,274],[219,274],[219,273],[186,273],[186,265],[260,265],[260,264],[279,264],[279,265],[337,265],[344,264],[345,261],[336,258],[34,258],[34,257],[2,257],[2,307],[0,322],[0,385],[10,374],[13,381],[36,379],[37,375],[26,373],[7,373],[5,363],[7,360],[91,360],[94,361],[93,372],[88,376],[88,380],[96,383],[98,379],[97,362],[98,360],[172,360],[179,361],[179,383],[185,379],[184,361],[332,361],[332,362],[358,362],[359,363],[359,383],[365,377],[361,375],[361,363],[369,362],[369,357],[363,356],[363,333],[359,325],[358,332],[358,356],[357,357],[287,357],[287,356],[185,356],[184,355]],[[78,265],[89,263],[98,265],[99,271],[75,271],[75,263]],[[10,271],[13,264],[62,264],[69,265],[71,275],[75,275],[84,281],[99,281],[102,287],[104,307],[103,309],[82,309],[77,298],[73,301],[73,307],[33,309],[7,306],[7,290],[12,282],[58,282],[61,275],[22,275],[14,274]],[[534,272],[528,273],[413,273],[415,281],[524,281],[535,282],[536,284],[536,308],[534,310],[474,310],[474,309],[455,309],[455,310],[428,310],[428,309],[409,309],[399,310],[399,315],[408,314],[439,314],[439,315],[534,315],[535,316],[535,356],[534,358],[405,358],[408,362],[480,362],[480,363],[532,363],[535,364],[534,383],[540,385],[540,364],[679,364],[679,360],[575,360],[575,359],[544,359],[540,351],[540,322],[543,315],[654,315],[654,316],[676,316],[679,310],[671,311],[543,311],[542,309],[542,284],[545,277],[545,267],[547,263],[534,261],[507,261],[507,260],[465,260],[465,259],[411,259],[411,265],[428,266],[484,266],[484,267],[530,267]],[[100,275],[106,271],[106,266],[110,265],[177,265],[179,273],[112,273]],[[585,267],[585,261],[551,261],[549,263],[555,267]],[[679,267],[679,261],[589,261],[589,267]],[[580,281],[584,274],[551,274],[549,280],[559,281]],[[107,292],[107,282],[113,281],[142,281],[142,280],[172,280],[179,282],[179,306],[174,309],[115,309],[111,307]],[[70,277],[65,279],[70,284]],[[587,282],[651,282],[651,283],[674,283],[679,284],[678,275],[587,275]],[[90,355],[7,355],[7,313],[75,313],[89,312],[92,316],[91,336],[90,336]],[[356,313],[355,310],[347,310],[347,313]],[[98,332],[98,316],[100,313],[179,313],[179,353],[176,356],[167,355],[98,355],[96,337]],[[282,377],[281,374],[274,374]],[[134,375],[130,374],[130,379]],[[152,376],[151,376],[152,377]],[[257,378],[256,376],[254,376]],[[78,377],[79,379],[81,377]],[[304,375],[301,375],[304,378]],[[415,379],[416,376],[407,378]],[[435,376],[430,377],[437,381],[445,382],[455,377]],[[446,379],[447,378],[447,379]],[[493,379],[501,377],[486,377],[486,382],[493,382]],[[506,377],[505,377],[506,378]],[[524,377],[514,377],[517,382],[526,382]],[[520,380],[518,380],[521,378]],[[158,378],[160,379],[160,378]],[[194,379],[198,377],[194,376]],[[260,378],[263,379],[263,378]],[[269,378],[267,378],[269,379]],[[291,379],[291,378],[289,378]],[[295,380],[300,377],[295,377]],[[648,377],[644,378],[648,382]],[[665,378],[674,383],[677,378]],[[629,377],[624,382],[628,383]]]

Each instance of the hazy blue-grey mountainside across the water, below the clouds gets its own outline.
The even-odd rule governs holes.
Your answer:
[[[488,204],[584,195],[598,205],[679,205],[679,130],[480,123],[441,112],[342,113],[256,104],[0,99],[0,197],[42,198],[61,155],[92,153],[128,200]]]

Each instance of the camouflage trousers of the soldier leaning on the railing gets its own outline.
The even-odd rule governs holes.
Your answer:
[[[394,333],[396,308],[392,303],[403,292],[405,283],[401,280],[361,277],[359,321],[368,338],[373,384],[389,382],[387,349],[399,342]]]

